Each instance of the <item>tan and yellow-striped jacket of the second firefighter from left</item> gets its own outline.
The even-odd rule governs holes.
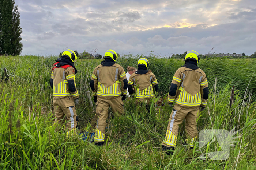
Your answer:
[[[114,97],[121,94],[126,95],[127,79],[124,68],[114,62],[109,66],[100,64],[91,75],[90,87],[93,96]]]

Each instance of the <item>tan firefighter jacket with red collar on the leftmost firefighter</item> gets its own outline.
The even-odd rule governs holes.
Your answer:
[[[53,88],[54,99],[61,99],[67,96],[72,96],[74,99],[79,98],[76,89],[75,69],[72,66],[54,67],[50,85]]]

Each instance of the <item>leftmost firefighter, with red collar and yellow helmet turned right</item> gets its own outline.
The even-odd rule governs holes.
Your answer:
[[[60,131],[67,120],[67,134],[76,133],[76,107],[79,94],[76,89],[75,74],[77,70],[74,62],[77,56],[74,51],[66,50],[62,53],[60,62],[54,64],[50,86],[53,89],[53,106],[55,123]]]

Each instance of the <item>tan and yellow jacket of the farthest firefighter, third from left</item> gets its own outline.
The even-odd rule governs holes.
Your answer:
[[[146,74],[133,73],[128,80],[128,84],[131,85],[128,85],[130,95],[136,98],[151,98],[158,88],[157,78],[151,71]],[[133,88],[135,88],[135,91],[133,91]]]

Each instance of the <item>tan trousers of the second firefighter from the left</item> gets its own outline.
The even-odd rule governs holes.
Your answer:
[[[108,118],[109,107],[113,113],[121,116],[124,112],[124,103],[121,96],[105,97],[98,96],[96,102],[96,115],[98,116],[94,141],[103,142],[105,138],[106,120]]]

